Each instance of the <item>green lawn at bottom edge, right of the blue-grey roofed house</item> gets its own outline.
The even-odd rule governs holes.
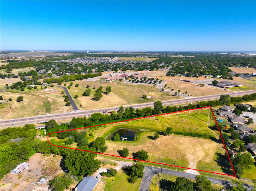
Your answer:
[[[131,184],[127,181],[127,175],[123,173],[123,171],[118,171],[116,177],[107,178],[101,177],[104,181],[104,191],[113,191],[113,190],[120,190],[120,191],[134,191],[139,190],[140,184],[142,179],[138,179],[136,183]]]

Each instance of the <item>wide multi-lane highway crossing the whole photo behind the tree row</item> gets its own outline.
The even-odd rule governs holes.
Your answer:
[[[235,96],[242,96],[242,95],[247,95],[247,94],[252,94],[256,93],[255,90],[249,90],[249,91],[243,91],[243,92],[233,92],[233,93],[227,93],[231,97]],[[210,95],[210,96],[201,96],[201,97],[189,97],[185,99],[175,99],[175,100],[169,100],[169,101],[162,101],[163,106],[167,105],[178,105],[178,104],[186,104],[186,103],[193,103],[196,101],[206,101],[206,100],[213,100],[213,99],[219,99],[219,95]],[[134,109],[136,108],[144,108],[144,107],[154,107],[153,102],[149,103],[144,103],[144,104],[133,104],[133,105],[126,105],[124,107],[133,107]],[[10,119],[10,120],[2,120],[0,122],[0,127],[8,127],[12,126],[13,121],[15,122],[15,125],[23,125],[23,124],[29,124],[29,123],[39,123],[39,122],[46,122],[51,119],[54,120],[61,120],[61,119],[71,119],[73,117],[83,117],[86,114],[92,114],[95,112],[100,112],[102,111],[112,111],[115,110],[117,111],[119,109],[119,106],[116,107],[109,107],[109,108],[101,108],[101,109],[93,109],[93,110],[75,110],[69,113],[54,113],[54,114],[47,114],[47,115],[40,115],[40,116],[34,116],[34,117],[27,117],[27,118],[19,118],[19,119]]]

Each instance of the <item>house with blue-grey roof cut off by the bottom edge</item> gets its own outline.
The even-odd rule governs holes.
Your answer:
[[[92,191],[97,186],[98,182],[99,180],[92,176],[84,177],[74,191]]]

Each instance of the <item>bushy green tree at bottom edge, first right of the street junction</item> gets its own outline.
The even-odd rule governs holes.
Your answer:
[[[177,177],[176,181],[171,185],[172,191],[194,191],[193,182],[184,177]]]

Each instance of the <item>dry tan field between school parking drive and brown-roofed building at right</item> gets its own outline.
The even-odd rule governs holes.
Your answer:
[[[160,79],[167,82],[167,86],[170,87],[170,90],[172,90],[172,88],[174,88],[174,91],[180,90],[181,93],[185,93],[187,91],[188,92],[187,95],[192,95],[194,97],[202,96],[202,95],[207,96],[207,95],[215,95],[215,94],[223,93],[223,90],[213,88],[213,87],[207,87],[207,84],[205,84],[205,86],[202,87],[197,84],[188,83],[188,82],[179,80],[179,79],[183,79],[183,80],[186,79],[186,80],[197,81],[197,80],[204,80],[205,78],[166,76],[166,77],[161,77]]]

